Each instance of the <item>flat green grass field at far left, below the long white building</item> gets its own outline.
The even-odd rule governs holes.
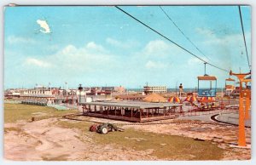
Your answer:
[[[34,115],[33,113],[41,112],[43,115]],[[61,117],[68,113],[77,112],[76,110],[58,111],[55,108],[38,105],[23,105],[23,104],[4,104],[4,122],[17,122],[18,120],[31,121],[32,117],[35,120],[42,120],[50,117]]]

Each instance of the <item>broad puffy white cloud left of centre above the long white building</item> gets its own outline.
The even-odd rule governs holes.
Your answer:
[[[101,45],[90,42],[81,48],[72,44],[67,45],[55,54],[44,57],[43,60],[28,58],[25,64],[41,67],[51,66],[59,73],[62,71],[87,73],[111,69],[115,65],[115,60]]]

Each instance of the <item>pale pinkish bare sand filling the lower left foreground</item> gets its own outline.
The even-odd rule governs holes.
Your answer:
[[[97,145],[79,130],[56,127],[56,118],[37,122],[7,123],[5,128],[20,128],[21,133],[4,134],[4,157],[15,161],[40,160],[155,160],[152,151],[132,151],[115,145]],[[85,136],[84,136],[85,137]]]

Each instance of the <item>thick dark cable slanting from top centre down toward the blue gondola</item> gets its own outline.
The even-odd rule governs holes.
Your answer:
[[[184,51],[186,51],[186,52],[188,52],[189,54],[193,55],[195,58],[197,58],[197,59],[199,59],[199,60],[203,61],[204,63],[207,63],[208,65],[212,65],[211,63],[207,62],[206,60],[203,60],[203,59],[201,59],[199,56],[197,56],[197,55],[193,54],[193,53],[192,53],[192,52],[190,52],[188,49],[183,48],[181,45],[179,45],[179,44],[177,44],[177,43],[173,42],[170,38],[168,38],[168,37],[164,36],[164,35],[163,35],[163,34],[161,34],[159,31],[156,31],[156,30],[154,30],[152,27],[150,27],[150,26],[146,25],[146,24],[145,24],[145,23],[143,23],[141,20],[138,20],[137,18],[135,18],[135,17],[134,17],[134,16],[132,16],[131,14],[127,13],[125,10],[120,9],[118,6],[115,6],[115,8],[116,8],[116,9],[119,9],[121,12],[123,12],[123,13],[127,14],[127,15],[128,15],[128,16],[130,16],[132,19],[137,20],[137,22],[141,23],[143,26],[148,27],[148,29],[150,29],[151,31],[154,31],[155,33],[157,33],[157,34],[158,34],[158,35],[160,35],[161,37],[166,38],[166,40],[168,40],[169,42],[171,42],[171,43],[175,44],[177,47],[182,48]],[[230,71],[228,71],[228,70],[225,70],[225,69],[223,69],[223,68],[218,67],[217,65],[212,65],[212,67],[215,67],[215,68],[217,68],[217,69],[219,69],[219,70],[221,70],[221,71],[227,71],[227,72],[230,72]]]

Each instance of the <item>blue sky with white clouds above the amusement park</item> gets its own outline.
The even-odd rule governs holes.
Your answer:
[[[122,6],[172,41],[221,68],[248,71],[237,6]],[[251,8],[241,7],[251,63]],[[37,20],[45,20],[50,33]],[[41,31],[40,31],[41,30]],[[4,10],[4,88],[166,85],[195,88],[204,65],[114,7],[7,7]],[[224,87],[227,72],[207,65]]]

